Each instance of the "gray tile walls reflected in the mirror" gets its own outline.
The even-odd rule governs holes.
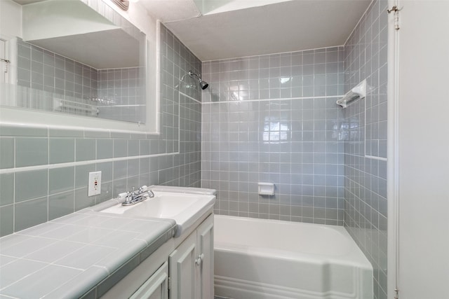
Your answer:
[[[19,105],[22,107],[53,110],[53,97],[60,97],[99,106],[100,118],[145,123],[145,108],[142,109],[145,103],[140,102],[145,95],[144,80],[145,72],[138,67],[95,69],[18,40],[18,85],[22,86]],[[62,112],[92,115],[75,109]]]

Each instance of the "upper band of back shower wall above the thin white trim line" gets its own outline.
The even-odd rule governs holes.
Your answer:
[[[203,102],[341,95],[343,48],[203,62]]]

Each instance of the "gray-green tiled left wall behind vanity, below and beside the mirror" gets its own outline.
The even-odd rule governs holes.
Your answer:
[[[161,63],[175,60],[183,70],[198,71],[201,62],[173,34],[164,28],[161,37]],[[164,74],[159,135],[0,124],[0,236],[133,186],[199,187],[201,94],[197,90],[191,94],[195,99],[179,100],[173,82],[180,69],[166,67]],[[88,172],[93,171],[102,172],[102,193],[88,197]]]

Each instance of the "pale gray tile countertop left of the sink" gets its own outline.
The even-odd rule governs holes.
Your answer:
[[[173,220],[98,210],[1,237],[0,298],[98,298],[175,234]]]

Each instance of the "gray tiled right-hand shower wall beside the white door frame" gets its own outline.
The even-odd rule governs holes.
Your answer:
[[[344,109],[344,225],[387,298],[387,1],[375,0],[344,46],[345,86],[367,79],[366,99]]]

